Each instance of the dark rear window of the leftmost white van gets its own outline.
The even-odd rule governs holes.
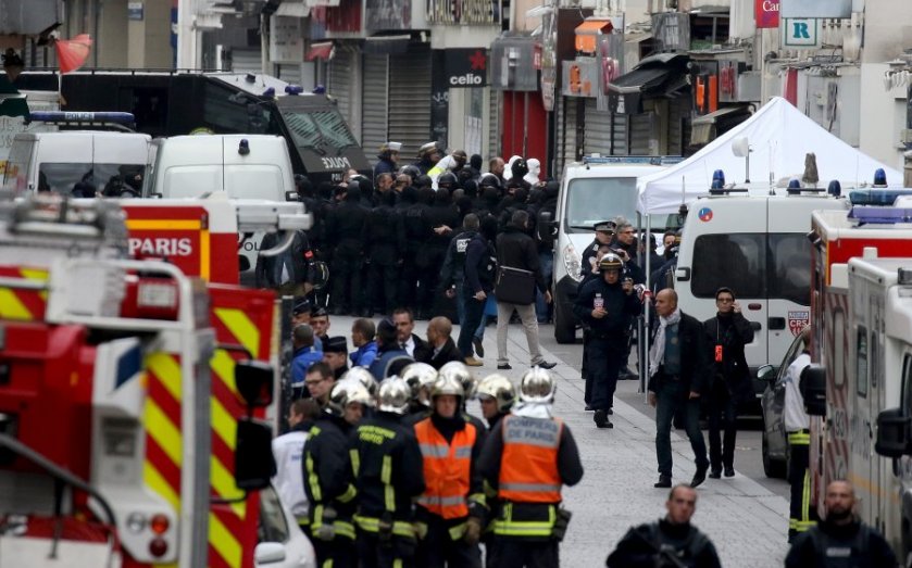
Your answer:
[[[142,190],[142,164],[86,164],[43,162],[38,166],[38,190],[76,197],[115,193],[120,187]],[[116,197],[116,195],[114,195]]]

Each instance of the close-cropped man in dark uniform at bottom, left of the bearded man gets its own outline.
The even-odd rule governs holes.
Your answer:
[[[719,555],[709,537],[690,525],[697,510],[697,492],[675,485],[665,503],[664,519],[632,527],[605,560],[609,568],[694,566],[719,568]]]

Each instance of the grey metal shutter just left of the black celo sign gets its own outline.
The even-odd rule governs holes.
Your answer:
[[[389,56],[389,138],[407,160],[430,141],[430,49]]]

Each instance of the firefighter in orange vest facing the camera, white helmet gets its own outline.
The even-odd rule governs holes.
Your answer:
[[[455,378],[439,377],[430,390],[430,415],[415,424],[426,484],[415,512],[422,568],[482,566],[478,540],[487,514],[476,469],[482,432],[463,418],[463,399]]]

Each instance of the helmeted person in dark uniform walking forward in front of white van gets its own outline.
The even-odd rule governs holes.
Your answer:
[[[639,313],[633,281],[621,281],[624,261],[608,253],[599,261],[601,278],[583,286],[573,313],[589,326],[586,369],[592,378],[591,406],[599,428],[613,428],[608,419],[614,402],[617,374],[624,366],[626,331]]]

